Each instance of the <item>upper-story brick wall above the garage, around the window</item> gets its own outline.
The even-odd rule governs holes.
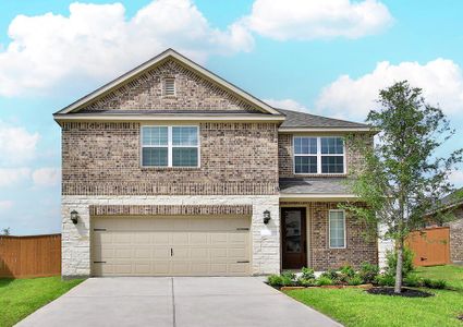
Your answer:
[[[62,125],[63,195],[277,194],[275,123],[200,123],[199,168],[142,168],[139,123]]]

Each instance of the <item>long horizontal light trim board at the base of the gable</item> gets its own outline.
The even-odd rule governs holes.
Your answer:
[[[92,114],[92,113],[56,113],[53,118],[57,122],[61,121],[283,121],[284,117],[270,114]]]

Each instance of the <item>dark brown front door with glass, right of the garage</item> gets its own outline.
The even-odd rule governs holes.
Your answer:
[[[305,208],[282,208],[283,269],[307,267]]]

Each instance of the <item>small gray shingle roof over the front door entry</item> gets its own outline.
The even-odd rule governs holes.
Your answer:
[[[280,179],[281,194],[352,194],[345,178]]]

